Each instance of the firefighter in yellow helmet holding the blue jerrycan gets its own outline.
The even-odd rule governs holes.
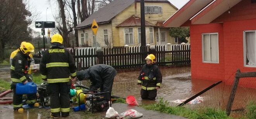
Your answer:
[[[29,54],[31,52],[34,52],[34,46],[31,43],[25,42],[24,44],[22,44],[22,46],[19,48],[19,51],[12,59],[12,64],[10,68],[10,76],[12,80],[11,89],[14,92],[12,102],[13,109],[18,110],[19,112],[23,112],[22,95],[16,94],[16,84],[26,84],[27,82],[32,82],[32,80],[28,76],[28,69],[30,66],[28,59],[30,59]],[[36,95],[27,95],[27,103],[30,106],[38,106],[38,103],[36,103]]]

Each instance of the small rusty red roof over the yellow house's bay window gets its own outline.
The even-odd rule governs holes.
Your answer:
[[[140,17],[131,16],[116,27],[121,27],[121,26],[141,26]],[[150,22],[147,22],[145,20],[145,26],[156,26],[156,25],[151,24]]]

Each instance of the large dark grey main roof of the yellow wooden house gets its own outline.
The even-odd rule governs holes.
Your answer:
[[[100,8],[98,11],[93,13],[90,17],[88,17],[83,22],[81,22],[81,24],[76,26],[76,29],[90,26],[92,24],[93,19],[96,20],[97,24],[109,23],[111,22],[112,19],[114,19],[116,15],[118,15],[120,12],[122,12],[127,7],[132,5],[134,1],[135,0],[114,0],[113,2],[107,4],[105,7]],[[137,0],[137,2],[140,2],[140,0]],[[168,0],[145,0],[145,2],[170,3]],[[175,7],[174,5],[172,6]]]

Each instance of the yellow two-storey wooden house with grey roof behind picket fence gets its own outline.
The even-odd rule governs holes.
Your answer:
[[[146,44],[178,43],[177,39],[170,37],[169,28],[163,27],[163,22],[178,9],[168,0],[145,0],[144,9]],[[93,19],[99,25],[96,36],[91,29]],[[76,29],[79,46],[96,46],[96,42],[101,47],[139,46],[140,0],[114,0],[81,22]]]

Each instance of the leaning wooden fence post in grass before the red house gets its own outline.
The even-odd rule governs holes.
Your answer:
[[[237,73],[241,73],[241,71],[239,69],[237,69]],[[235,99],[235,92],[237,91],[238,83],[239,83],[239,77],[235,76],[235,80],[234,80],[234,83],[232,86],[230,97],[228,99],[228,104],[227,104],[227,109],[226,109],[227,116],[230,115],[230,111],[231,111],[231,108],[232,108],[232,105],[233,105],[233,102]]]

